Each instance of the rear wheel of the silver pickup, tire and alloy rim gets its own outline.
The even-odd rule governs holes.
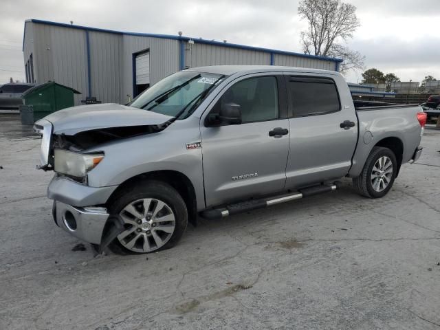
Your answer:
[[[389,167],[390,162],[391,169]],[[383,167],[381,167],[381,164],[383,164]],[[393,187],[396,175],[397,160],[393,151],[382,146],[375,146],[366,159],[360,176],[353,178],[353,186],[360,195],[365,197],[384,197]]]

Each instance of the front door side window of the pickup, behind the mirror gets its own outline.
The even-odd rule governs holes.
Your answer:
[[[239,104],[241,120],[261,122],[278,118],[278,86],[276,77],[255,77],[232,85],[215,104],[212,113],[219,113],[222,104]]]

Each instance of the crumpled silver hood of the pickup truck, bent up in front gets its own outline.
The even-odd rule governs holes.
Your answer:
[[[89,104],[56,111],[44,119],[54,125],[55,134],[74,135],[92,129],[122,126],[157,125],[169,120],[170,116],[152,111],[126,107],[121,104]]]

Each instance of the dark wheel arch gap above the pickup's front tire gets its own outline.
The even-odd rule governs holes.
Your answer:
[[[175,190],[179,192],[179,195],[181,195],[182,199],[185,201],[186,208],[188,209],[188,222],[190,222],[192,225],[197,225],[197,197],[195,188],[191,180],[177,170],[154,170],[126,179],[110,195],[109,199],[107,200],[107,206],[113,203],[113,199],[115,196],[118,196],[118,193],[121,190],[126,189],[126,187],[131,186],[140,180],[148,179],[162,181],[175,188]]]

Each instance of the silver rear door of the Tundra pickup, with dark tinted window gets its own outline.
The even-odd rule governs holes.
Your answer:
[[[358,139],[358,120],[344,79],[292,74],[285,79],[290,126],[286,188],[344,177]]]

